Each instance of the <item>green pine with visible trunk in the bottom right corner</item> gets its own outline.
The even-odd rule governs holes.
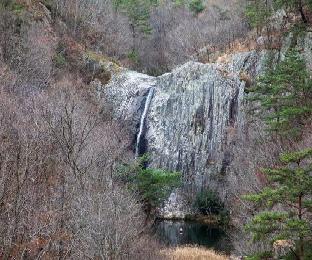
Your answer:
[[[256,241],[290,239],[297,244],[298,259],[305,258],[305,244],[312,239],[312,148],[280,156],[281,167],[264,169],[269,185],[244,199],[264,207],[246,228]],[[280,205],[283,211],[273,210]]]

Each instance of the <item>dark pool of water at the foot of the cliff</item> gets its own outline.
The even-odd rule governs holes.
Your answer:
[[[194,221],[159,220],[155,224],[158,239],[167,246],[198,245],[229,253],[231,243],[218,226]]]

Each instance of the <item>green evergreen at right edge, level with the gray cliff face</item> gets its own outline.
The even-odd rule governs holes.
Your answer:
[[[299,137],[304,120],[311,114],[312,82],[304,60],[296,49],[287,52],[285,59],[259,78],[249,90],[258,101],[268,130],[280,135]]]

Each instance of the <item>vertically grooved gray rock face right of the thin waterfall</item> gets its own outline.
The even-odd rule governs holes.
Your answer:
[[[189,62],[158,77],[147,120],[151,165],[181,172],[189,187],[216,184],[231,159],[229,132],[242,123],[240,74],[255,74],[260,58],[249,52],[228,64]]]

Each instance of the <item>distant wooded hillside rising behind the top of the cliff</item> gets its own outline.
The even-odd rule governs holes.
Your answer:
[[[90,48],[160,74],[243,36],[241,1],[55,1],[51,8]]]

